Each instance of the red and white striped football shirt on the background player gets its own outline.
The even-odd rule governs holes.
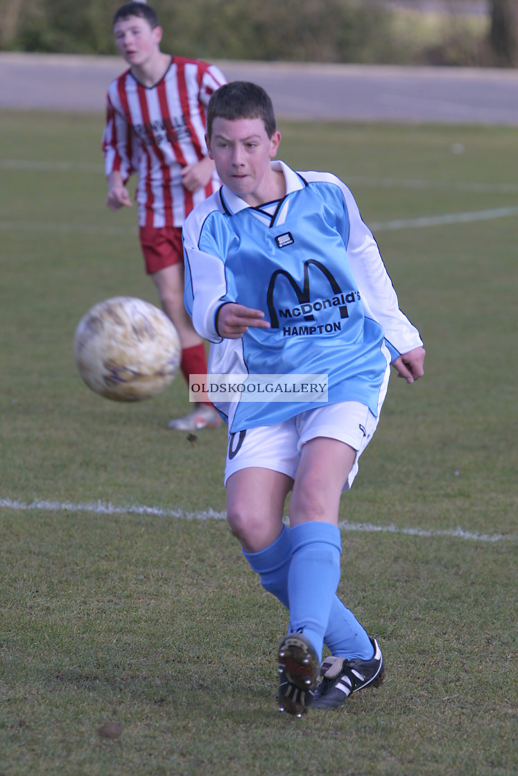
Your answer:
[[[217,190],[216,173],[196,192],[182,185],[181,171],[207,155],[205,131],[210,95],[226,78],[214,65],[172,57],[158,84],[146,88],[126,71],[110,84],[103,152],[106,175],[123,181],[138,173],[141,227],[181,227],[196,205]]]

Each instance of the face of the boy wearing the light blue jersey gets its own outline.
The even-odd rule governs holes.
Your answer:
[[[262,119],[217,116],[212,137],[207,137],[209,155],[221,181],[252,206],[278,199],[276,175],[269,162],[279,144],[280,132],[268,137]]]

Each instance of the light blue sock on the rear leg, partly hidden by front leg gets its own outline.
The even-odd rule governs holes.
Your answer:
[[[275,542],[260,550],[259,553],[245,553],[243,550],[243,555],[252,570],[259,574],[262,587],[289,609],[290,528],[284,525]],[[355,657],[370,660],[373,654],[373,647],[367,633],[353,612],[342,604],[338,596],[335,596],[332,601],[324,643],[332,655],[347,657],[349,660]]]

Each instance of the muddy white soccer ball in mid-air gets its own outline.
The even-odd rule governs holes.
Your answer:
[[[174,379],[180,341],[158,307],[131,296],[114,296],[94,305],[79,321],[74,358],[82,379],[99,396],[142,401]]]

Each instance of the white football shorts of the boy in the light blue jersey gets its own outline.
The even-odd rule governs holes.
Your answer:
[[[358,459],[376,431],[379,410],[387,390],[386,383],[387,379],[384,381],[384,390],[381,390],[378,417],[374,417],[365,404],[344,401],[301,412],[282,423],[230,434],[224,484],[227,484],[231,474],[249,466],[273,469],[294,480],[303,445],[316,437],[329,437],[346,442],[356,450],[353,468],[343,487],[343,490],[349,490],[358,471]]]

